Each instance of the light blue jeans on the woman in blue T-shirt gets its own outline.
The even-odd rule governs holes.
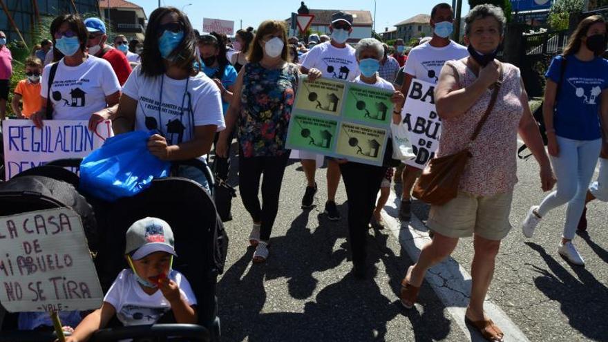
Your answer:
[[[551,209],[568,203],[562,236],[572,240],[585,207],[585,196],[600,156],[602,140],[572,140],[560,136],[557,140],[560,154],[551,156],[551,164],[558,187],[542,200],[538,214],[544,216]]]

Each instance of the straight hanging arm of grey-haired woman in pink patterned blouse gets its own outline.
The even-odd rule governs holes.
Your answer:
[[[528,94],[526,93],[526,89],[524,88],[524,84],[521,79],[520,84],[522,87],[520,102],[524,107],[524,115],[522,115],[522,118],[520,119],[518,132],[520,133],[522,140],[524,140],[524,144],[528,146],[528,149],[530,149],[532,155],[534,155],[534,158],[540,165],[542,191],[549,191],[553,189],[553,185],[555,184],[555,177],[553,176],[553,171],[551,170],[551,162],[549,162],[547,152],[544,151],[544,144],[542,143],[540,131],[538,131],[538,124],[536,124],[536,120],[534,120],[532,112],[530,111]]]

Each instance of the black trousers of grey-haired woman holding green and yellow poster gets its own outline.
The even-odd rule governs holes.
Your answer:
[[[386,167],[347,162],[340,164],[342,180],[348,198],[348,235],[352,250],[352,262],[365,263],[365,237],[376,208],[376,197],[380,183],[386,174]]]

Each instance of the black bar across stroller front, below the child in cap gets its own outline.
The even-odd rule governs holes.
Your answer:
[[[155,324],[113,327],[97,330],[91,342],[118,341],[121,339],[148,338],[166,341],[168,337],[182,337],[191,341],[210,341],[209,330],[196,324]]]

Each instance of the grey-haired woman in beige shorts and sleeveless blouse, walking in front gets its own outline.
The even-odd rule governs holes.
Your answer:
[[[435,158],[464,149],[473,155],[459,180],[457,197],[431,205],[428,227],[435,235],[421,250],[401,282],[401,303],[412,307],[426,270],[447,258],[459,238],[473,237],[471,300],[465,320],[488,341],[504,334],[484,313],[484,299],[494,273],[500,240],[511,230],[509,213],[517,182],[517,133],[540,164],[543,191],[555,184],[538,125],[528,106],[520,70],[494,59],[503,39],[504,15],[492,5],[475,6],[466,17],[465,42],[470,55],[447,61],[435,88],[435,105],[442,120]],[[493,108],[491,97],[496,92]],[[475,140],[475,127],[489,111]]]

